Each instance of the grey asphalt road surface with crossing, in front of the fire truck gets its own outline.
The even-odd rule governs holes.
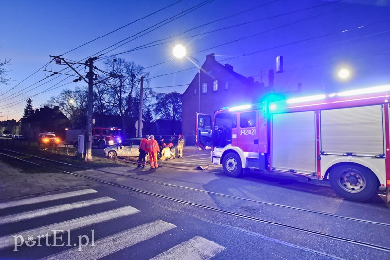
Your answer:
[[[288,227],[390,248],[390,209],[379,195],[369,202],[356,203],[337,197],[326,185],[312,184],[295,176],[250,171],[242,178],[230,178],[222,173],[221,166],[209,164],[206,153],[185,156],[162,162],[157,170],[130,165],[104,169],[115,175],[91,170],[79,172],[128,188],[99,183],[93,188],[96,192],[72,189],[42,194],[43,197],[38,196],[41,200],[32,204],[9,207],[20,199],[0,204],[1,258],[85,259],[93,255],[104,259],[390,257],[387,251]],[[197,165],[206,164],[209,164],[208,170],[196,170]],[[79,190],[85,194],[54,200],[44,197]],[[331,214],[389,226],[335,218]],[[102,215],[109,217],[104,219]],[[15,245],[15,240],[17,245],[21,244],[21,237],[24,240],[28,240],[28,235],[35,237],[38,234],[35,228],[40,228],[44,234],[51,230],[69,231],[61,238],[57,234],[57,246],[53,245],[53,236],[47,241],[42,238],[42,246],[37,243]],[[85,244],[87,236],[89,245],[80,247],[80,238]],[[92,240],[95,246],[90,246]]]

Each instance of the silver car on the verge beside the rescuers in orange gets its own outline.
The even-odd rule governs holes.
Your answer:
[[[139,156],[139,143],[142,138],[130,138],[121,143],[116,143],[113,146],[106,147],[103,150],[103,154],[109,158],[115,158],[116,156]]]

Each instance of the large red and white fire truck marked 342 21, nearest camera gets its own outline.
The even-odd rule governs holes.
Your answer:
[[[329,180],[364,201],[390,187],[390,85],[197,113],[196,145],[228,176],[243,169]]]

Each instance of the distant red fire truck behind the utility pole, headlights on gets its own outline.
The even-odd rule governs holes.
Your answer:
[[[66,128],[65,141],[68,145],[78,146],[78,136],[85,135],[86,129]],[[98,148],[106,148],[121,141],[120,128],[117,127],[94,127],[92,129],[92,145]]]

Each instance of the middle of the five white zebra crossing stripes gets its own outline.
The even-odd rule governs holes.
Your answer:
[[[72,230],[75,230],[78,228],[102,223],[102,222],[105,222],[108,220],[117,219],[117,218],[124,217],[124,216],[129,216],[129,215],[136,214],[139,212],[140,211],[134,207],[125,206],[125,207],[121,207],[121,208],[117,208],[117,209],[113,209],[113,210],[109,210],[109,211],[105,211],[105,212],[100,212],[100,213],[85,216],[85,217],[80,217],[77,219],[72,219],[72,220],[54,223],[54,224],[50,224],[50,225],[46,225],[46,226],[42,226],[42,227],[37,227],[34,229],[20,231],[20,232],[15,233],[15,234],[0,237],[0,249],[7,248],[7,247],[13,247],[14,242],[15,242],[14,236],[21,235],[23,238],[25,238],[28,235],[35,236],[36,238],[37,238],[37,236],[44,236],[46,234],[48,236],[52,236],[53,230],[56,230],[58,232],[58,234],[60,234],[62,232],[59,232],[59,230],[62,230],[64,232],[66,232],[66,230],[72,231]]]

